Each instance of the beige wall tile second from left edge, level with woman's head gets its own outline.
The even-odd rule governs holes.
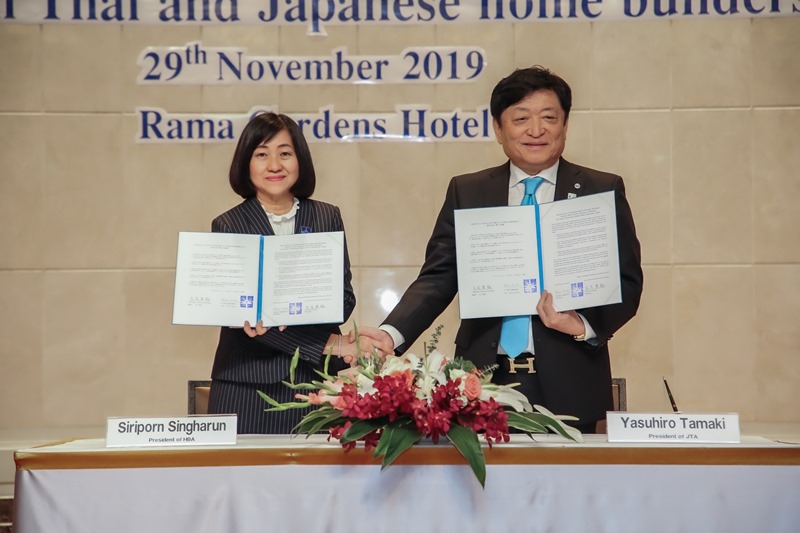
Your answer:
[[[122,124],[119,115],[46,117],[43,266],[124,264]]]

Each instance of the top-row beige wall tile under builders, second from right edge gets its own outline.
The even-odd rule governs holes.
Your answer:
[[[748,19],[673,21],[673,107],[751,105],[750,33]]]

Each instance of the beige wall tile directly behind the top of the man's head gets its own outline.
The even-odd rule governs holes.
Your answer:
[[[504,32],[502,25],[493,26]],[[569,82],[572,88],[572,109],[592,107],[592,23],[572,22],[555,24],[514,25],[514,65],[506,65],[504,49],[497,49],[501,61],[495,83],[508,76],[513,67],[531,65],[547,67]],[[492,56],[494,59],[494,56]],[[489,87],[491,92],[494,83]]]

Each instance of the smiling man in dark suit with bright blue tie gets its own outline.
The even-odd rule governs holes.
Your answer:
[[[594,432],[613,409],[607,343],[636,314],[644,277],[622,178],[561,157],[571,105],[569,85],[543,67],[518,69],[497,84],[490,110],[495,136],[509,161],[450,181],[419,276],[380,329],[360,332],[383,351],[400,353],[452,302],[458,292],[456,209],[518,205],[525,194],[523,180],[532,176],[543,178],[535,193],[538,203],[614,191],[621,303],[558,312],[552,295],[543,291],[527,346],[516,357],[500,341],[502,317],[462,320],[455,339],[456,356],[479,367],[497,363],[495,382],[519,382],[518,390],[531,403],[576,416],[578,429]]]

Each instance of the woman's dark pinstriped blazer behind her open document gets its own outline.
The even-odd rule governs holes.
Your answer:
[[[248,198],[221,214],[211,223],[216,233],[275,235],[269,217],[256,198]],[[300,200],[295,218],[295,233],[344,231],[339,208],[316,200]],[[347,240],[344,246],[344,322],[356,305],[353,292]],[[224,327],[211,370],[212,379],[241,383],[277,383],[289,375],[289,362],[295,349],[312,366],[321,366],[323,350],[331,333],[339,333],[338,324],[291,326],[284,331],[271,328],[264,335],[248,337],[239,328]]]

